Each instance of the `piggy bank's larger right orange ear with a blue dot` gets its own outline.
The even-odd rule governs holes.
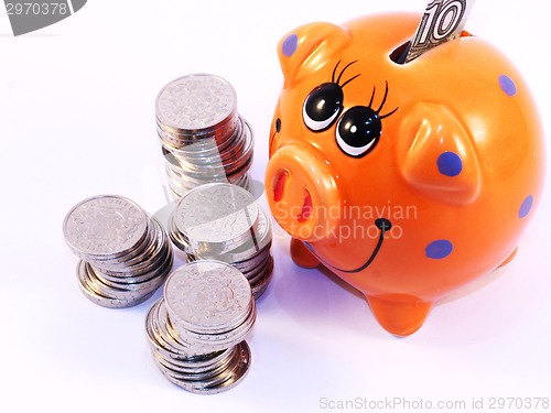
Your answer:
[[[473,140],[460,119],[433,102],[403,108],[397,161],[403,178],[420,194],[447,204],[469,204],[482,175]]]

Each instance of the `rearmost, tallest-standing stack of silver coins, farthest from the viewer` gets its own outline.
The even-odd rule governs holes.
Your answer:
[[[176,198],[209,182],[249,188],[253,135],[237,112],[237,97],[225,79],[187,75],[156,97],[156,130],[169,186]]]

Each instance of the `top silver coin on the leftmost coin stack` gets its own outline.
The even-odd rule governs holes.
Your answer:
[[[133,202],[114,195],[85,199],[63,224],[65,240],[79,258],[118,257],[147,235],[145,213]]]

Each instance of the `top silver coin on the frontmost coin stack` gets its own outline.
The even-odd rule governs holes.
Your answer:
[[[218,261],[195,261],[171,273],[164,300],[171,319],[188,329],[209,333],[235,326],[249,312],[252,293],[244,274]]]

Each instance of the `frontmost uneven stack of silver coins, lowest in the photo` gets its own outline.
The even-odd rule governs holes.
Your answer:
[[[237,269],[210,260],[184,264],[145,319],[156,366],[194,393],[231,389],[249,370],[245,338],[256,315],[250,285]]]

